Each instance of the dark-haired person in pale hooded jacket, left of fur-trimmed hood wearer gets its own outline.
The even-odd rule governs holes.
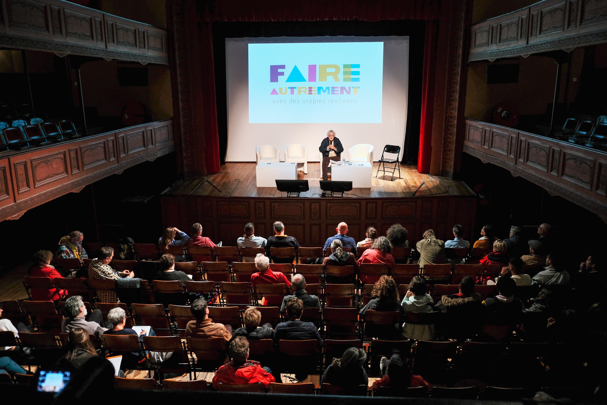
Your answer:
[[[406,312],[432,312],[434,308],[433,299],[426,293],[426,281],[420,276],[415,276],[411,279],[409,290],[402,299],[402,311]],[[432,340],[434,339],[435,325],[414,325],[405,322],[402,329],[402,335],[405,338],[415,340]]]

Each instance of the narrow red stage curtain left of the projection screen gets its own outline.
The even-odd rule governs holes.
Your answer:
[[[211,24],[198,24],[200,33],[200,55],[205,56],[206,63],[200,64],[202,78],[202,103],[205,107],[205,164],[209,173],[219,173],[219,129],[217,127],[217,99],[215,98],[215,68],[213,60],[213,35]]]

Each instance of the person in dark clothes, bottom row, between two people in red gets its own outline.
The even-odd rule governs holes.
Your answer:
[[[345,350],[341,359],[333,362],[322,374],[320,384],[331,384],[340,387],[344,395],[354,394],[358,386],[368,386],[369,378],[364,367],[367,353],[364,349],[350,347]]]

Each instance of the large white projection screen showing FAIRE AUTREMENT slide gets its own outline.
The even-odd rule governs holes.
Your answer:
[[[408,67],[408,36],[226,38],[226,162],[255,162],[266,143],[281,160],[302,143],[318,162],[329,129],[379,160],[404,143]]]

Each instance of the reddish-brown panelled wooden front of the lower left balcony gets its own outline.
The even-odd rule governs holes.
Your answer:
[[[0,154],[0,220],[175,150],[172,120]]]

